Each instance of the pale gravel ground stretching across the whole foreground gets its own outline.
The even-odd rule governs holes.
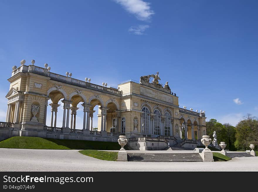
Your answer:
[[[0,171],[258,171],[258,157],[228,162],[115,162],[78,151],[0,148]]]

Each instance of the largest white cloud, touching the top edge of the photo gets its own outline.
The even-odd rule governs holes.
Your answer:
[[[155,14],[150,9],[150,3],[142,0],[115,0],[116,3],[122,5],[126,11],[135,15],[138,20],[150,20],[151,15]]]

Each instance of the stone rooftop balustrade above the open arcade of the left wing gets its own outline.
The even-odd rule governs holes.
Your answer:
[[[76,86],[80,86],[80,87],[84,87],[84,88],[88,88],[88,89],[96,89],[98,91],[100,90],[100,91],[110,93],[110,94],[113,94],[113,95],[120,96],[120,94],[121,94],[121,91],[118,91],[118,89],[115,89],[115,88],[112,88],[112,87],[107,88],[107,87],[92,84],[92,83],[89,83],[89,82],[81,81],[79,79],[74,79],[74,78],[71,78],[71,77],[68,77],[68,76],[63,76],[63,75],[59,75],[59,74],[56,74],[56,73],[52,73],[52,72],[48,71],[46,68],[38,67],[38,66],[35,66],[35,65],[28,65],[28,66],[27,65],[21,65],[17,69],[13,70],[12,76],[16,75],[18,72],[37,73],[37,74],[40,74],[40,75],[50,77],[51,79],[56,80],[56,81],[61,81],[61,82],[65,81],[67,83],[74,84]]]

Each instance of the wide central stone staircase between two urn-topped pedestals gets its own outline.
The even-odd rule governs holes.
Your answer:
[[[199,153],[128,153],[128,161],[142,162],[202,162]]]

